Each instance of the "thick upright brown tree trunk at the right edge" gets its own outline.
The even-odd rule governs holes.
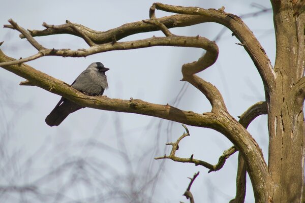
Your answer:
[[[268,92],[270,202],[303,202],[304,115],[302,88],[304,18],[291,1],[272,2],[277,55],[275,89]]]

